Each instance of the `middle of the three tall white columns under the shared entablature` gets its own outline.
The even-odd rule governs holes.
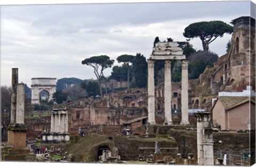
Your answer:
[[[172,124],[171,60],[164,62],[164,123]]]

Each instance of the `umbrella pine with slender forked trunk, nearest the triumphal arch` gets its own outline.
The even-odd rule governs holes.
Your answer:
[[[82,64],[89,65],[94,69],[94,74],[98,80],[101,97],[103,95],[102,89],[101,89],[101,78],[102,76],[104,76],[103,70],[105,70],[106,68],[111,68],[113,63],[114,63],[114,60],[110,60],[109,56],[107,55],[92,56],[82,61]],[[105,82],[105,80],[103,80],[103,82]],[[105,83],[105,88],[106,88],[106,83]]]

